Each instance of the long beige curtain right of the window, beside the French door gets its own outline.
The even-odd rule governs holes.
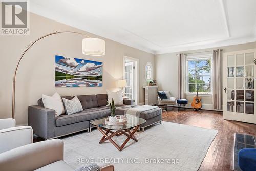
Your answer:
[[[212,101],[214,109],[221,110],[221,50],[213,52],[212,63]]]

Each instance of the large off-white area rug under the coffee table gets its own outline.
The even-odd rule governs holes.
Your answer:
[[[98,130],[75,134],[64,141],[64,159],[73,168],[94,162],[114,164],[117,171],[132,170],[198,170],[217,130],[162,122],[135,133],[124,149],[106,141],[99,144]],[[124,136],[114,137],[122,144]]]

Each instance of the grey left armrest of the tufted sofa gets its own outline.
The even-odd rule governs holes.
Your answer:
[[[34,134],[44,139],[56,135],[55,110],[38,105],[29,106],[28,124],[33,127]]]

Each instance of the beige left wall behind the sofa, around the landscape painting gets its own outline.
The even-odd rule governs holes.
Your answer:
[[[92,37],[99,37],[33,13],[30,15],[29,36],[0,36],[2,71],[0,118],[11,117],[12,78],[19,56],[36,38],[55,31],[77,31],[86,33]],[[106,93],[106,89],[115,87],[116,79],[122,78],[123,55],[139,59],[139,102],[144,102],[142,89],[142,86],[146,84],[144,68],[147,62],[152,62],[154,67],[154,55],[103,38],[106,41],[106,55],[98,57],[86,56],[81,53],[82,38],[84,38],[84,36],[72,33],[51,35],[36,42],[36,44],[25,54],[18,68],[16,78],[15,118],[17,124],[27,124],[28,106],[37,104],[37,100],[42,94],[52,95],[54,92],[58,92],[60,95],[65,96]],[[55,88],[55,55],[103,62],[103,86],[87,88]]]

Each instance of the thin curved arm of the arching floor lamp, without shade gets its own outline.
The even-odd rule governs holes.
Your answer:
[[[43,39],[45,37],[48,37],[50,35],[53,35],[53,34],[58,34],[58,33],[75,33],[75,34],[80,34],[80,35],[84,35],[84,36],[87,36],[87,37],[90,37],[86,34],[83,34],[83,33],[79,33],[79,32],[74,32],[74,31],[56,31],[56,32],[53,32],[53,33],[49,33],[49,34],[46,34],[44,36],[41,36],[39,38],[37,38],[35,41],[33,41],[26,49],[25,51],[22,53],[22,56],[20,56],[19,60],[18,60],[18,64],[16,66],[16,69],[15,69],[15,72],[14,72],[14,75],[13,75],[13,82],[12,82],[12,118],[14,119],[15,117],[15,84],[16,84],[16,74],[17,74],[17,70],[18,70],[18,66],[19,66],[19,63],[20,61],[22,60],[23,56],[25,55],[25,53],[28,51],[28,49],[34,45],[37,41],[39,41],[40,39]]]

